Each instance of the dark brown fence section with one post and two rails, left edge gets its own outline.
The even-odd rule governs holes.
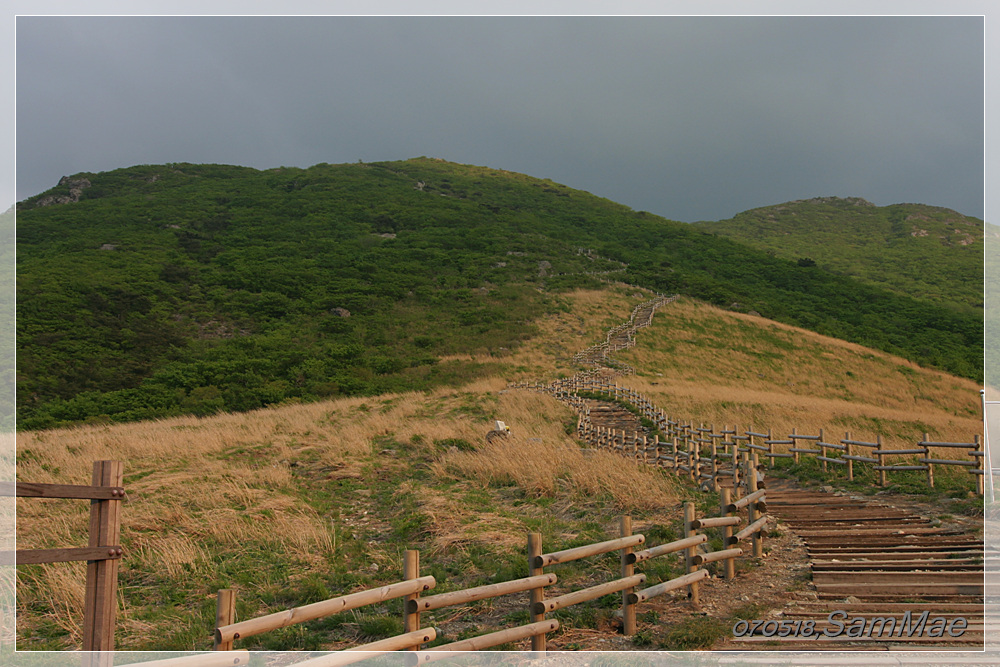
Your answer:
[[[0,496],[19,498],[71,498],[90,501],[90,532],[86,547],[18,549],[0,552],[0,562],[17,565],[87,561],[83,606],[83,650],[114,651],[115,612],[118,601],[118,561],[124,465],[121,461],[95,461],[90,486],[0,482]]]

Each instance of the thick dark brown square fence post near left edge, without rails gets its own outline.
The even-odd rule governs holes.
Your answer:
[[[95,461],[93,486],[122,486],[121,461]],[[121,499],[90,501],[90,538],[87,546],[119,543]],[[118,560],[87,561],[87,588],[83,606],[83,650],[115,650],[115,612],[118,608]],[[109,653],[110,655],[110,653]]]

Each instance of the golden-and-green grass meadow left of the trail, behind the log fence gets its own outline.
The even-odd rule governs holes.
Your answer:
[[[621,512],[653,522],[675,514],[675,482],[665,473],[607,453],[597,454],[607,461],[586,458],[567,435],[576,423],[568,408],[504,387],[484,380],[24,433],[18,478],[86,484],[92,461],[124,461],[122,650],[210,648],[219,588],[237,589],[238,615],[247,618],[397,581],[404,549],[420,549],[439,581],[475,585],[526,571],[529,531],[555,544],[606,539]],[[513,433],[488,445],[495,419]],[[19,548],[82,546],[86,529],[86,503],[18,503]],[[20,649],[79,646],[85,571],[18,568]],[[346,645],[364,636],[350,621],[245,646]]]

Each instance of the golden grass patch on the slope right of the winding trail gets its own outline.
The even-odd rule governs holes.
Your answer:
[[[974,382],[759,317],[680,299],[636,341],[620,383],[683,420],[897,444],[982,433]]]

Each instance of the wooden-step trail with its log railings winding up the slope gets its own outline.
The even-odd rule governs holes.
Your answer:
[[[612,359],[611,353],[633,347],[638,330],[650,324],[659,307],[676,298],[657,295],[636,306],[628,322],[612,328],[600,344],[576,354],[574,361],[590,370],[551,383],[514,386],[549,393],[573,406],[580,416],[579,436],[590,446],[671,469],[705,490],[733,489],[739,494],[738,486],[747,481],[741,476],[747,471],[737,462],[748,456],[754,462],[760,457],[761,467],[767,469],[778,458],[798,462],[801,456],[815,455],[824,471],[832,466],[848,480],[854,478],[856,466],[871,465],[882,487],[887,486],[889,473],[906,470],[924,472],[933,487],[935,467],[962,466],[975,476],[982,495],[983,447],[978,435],[969,442],[947,443],[933,442],[925,434],[920,442],[897,450],[887,448],[880,438],[869,443],[847,434],[834,441],[822,430],[819,435],[803,435],[793,429],[787,438],[769,430],[717,433],[714,426],[703,428],[691,420],[671,418],[646,397],[619,386],[614,378],[632,375],[635,369]],[[603,394],[608,400],[583,398],[579,393]],[[648,429],[623,405],[638,408],[635,412],[666,438],[647,442]],[[944,450],[965,451],[948,458],[932,453]],[[906,455],[922,458],[917,465],[898,460]],[[811,581],[803,582],[803,590],[790,591],[792,601],[783,609],[765,610],[754,631],[717,649],[975,650],[983,646],[989,636],[985,620],[994,628],[1000,614],[984,619],[988,591],[980,531],[963,525],[945,527],[908,509],[859,495],[804,490],[790,480],[769,477],[766,487],[767,512],[806,546]],[[1000,567],[996,564],[1000,556],[995,552],[989,556],[989,566]],[[990,601],[1000,600],[1000,589],[989,592]],[[922,615],[924,625],[920,625]],[[801,631],[804,624],[812,630],[808,636]],[[941,626],[947,629],[940,631]],[[781,636],[776,629],[785,627],[799,630]],[[860,634],[858,627],[863,628]]]

